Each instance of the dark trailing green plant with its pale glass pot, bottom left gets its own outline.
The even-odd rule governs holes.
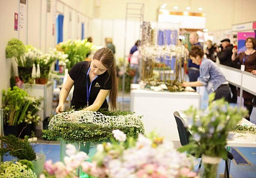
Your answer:
[[[2,147],[0,148],[1,156],[9,154],[19,160],[26,159],[32,161],[35,174],[39,175],[43,172],[45,155],[35,153],[27,136],[25,136],[25,139],[17,138],[14,135],[0,136],[0,141],[2,143]]]

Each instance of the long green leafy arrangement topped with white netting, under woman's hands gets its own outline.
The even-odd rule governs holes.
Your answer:
[[[141,117],[133,115],[133,112],[83,112],[77,115],[76,120],[67,120],[66,116],[72,113],[76,114],[71,110],[51,117],[48,130],[43,130],[43,137],[66,143],[99,143],[107,141],[115,129],[133,138],[137,138],[138,133],[144,133]]]

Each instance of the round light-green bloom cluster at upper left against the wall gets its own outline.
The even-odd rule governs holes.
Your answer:
[[[12,40],[9,40],[6,46],[6,58],[17,58],[22,56],[25,51],[26,48],[22,41],[18,40],[17,38],[12,38]]]

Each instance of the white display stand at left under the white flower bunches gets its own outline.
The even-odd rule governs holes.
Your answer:
[[[36,129],[43,129],[43,120],[45,117],[49,117],[52,114],[53,107],[53,83],[48,82],[47,84],[22,84],[24,89],[30,96],[36,99],[43,97],[43,101],[40,104],[42,110],[38,111],[38,115],[42,119],[39,125],[36,125]]]

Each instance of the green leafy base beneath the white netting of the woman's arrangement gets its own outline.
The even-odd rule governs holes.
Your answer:
[[[102,114],[107,116],[120,116],[131,115],[133,112],[110,112],[106,110],[100,110]],[[141,117],[140,117],[141,119]],[[124,120],[123,122],[127,122]],[[141,122],[141,121],[139,121]],[[49,140],[58,138],[58,140],[66,143],[80,143],[80,142],[92,142],[99,143],[100,141],[106,141],[112,135],[112,130],[122,130],[129,137],[137,138],[138,133],[144,133],[144,125],[139,127],[125,127],[112,123],[110,126],[97,125],[95,123],[73,123],[73,122],[61,122],[53,125],[53,128],[49,130],[43,130],[43,137]]]

